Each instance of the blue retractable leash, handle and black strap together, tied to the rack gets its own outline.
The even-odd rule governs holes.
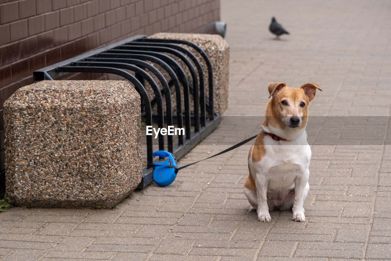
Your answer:
[[[222,152],[214,154],[213,156],[210,156],[206,159],[210,159],[215,156],[219,156],[225,152],[228,152],[230,150],[236,149],[237,147],[242,146],[244,143],[248,143],[250,140],[255,139],[256,136],[258,136],[258,134],[256,134],[255,136],[253,136],[251,138],[248,138],[247,140],[239,142],[238,144],[235,144],[232,147],[230,147],[226,150],[223,150]],[[168,157],[168,159],[166,159],[165,161],[154,162],[154,164],[151,166],[151,167],[155,167],[155,170],[153,172],[153,179],[154,179],[155,183],[161,187],[165,187],[165,186],[170,185],[172,183],[172,181],[174,181],[174,179],[176,178],[176,174],[178,173],[179,170],[184,169],[190,165],[193,165],[195,163],[198,163],[200,161],[205,160],[205,159],[201,159],[199,161],[195,161],[193,163],[190,163],[190,164],[187,164],[185,166],[178,168],[178,164],[176,163],[174,155],[172,155],[172,153],[170,153],[168,151],[158,150],[158,151],[153,152],[152,156],[153,157],[159,156],[162,158]]]

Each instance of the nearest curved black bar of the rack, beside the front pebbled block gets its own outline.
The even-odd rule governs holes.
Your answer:
[[[83,66],[62,66],[57,67],[58,72],[100,72],[100,73],[112,73],[122,76],[129,80],[129,82],[135,85],[136,91],[140,94],[140,97],[145,102],[145,121],[147,125],[152,125],[152,109],[149,101],[148,93],[144,86],[136,79],[135,76],[129,72],[111,68],[111,67],[83,67]],[[152,136],[147,136],[147,168],[152,168],[153,165],[153,147],[152,147]]]

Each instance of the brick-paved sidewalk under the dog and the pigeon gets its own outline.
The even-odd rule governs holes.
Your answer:
[[[391,259],[391,147],[382,145],[391,134],[391,2],[221,0],[221,10],[229,109],[179,165],[259,132],[262,122],[249,116],[264,114],[269,82],[317,82],[323,92],[310,115],[326,117],[308,127],[307,220],[291,221],[289,211],[256,220],[242,192],[245,145],[181,170],[169,187],[136,191],[113,210],[11,208],[0,214],[0,260]],[[280,41],[267,31],[272,15],[291,33]],[[333,122],[348,118],[341,128],[351,129],[334,133]]]

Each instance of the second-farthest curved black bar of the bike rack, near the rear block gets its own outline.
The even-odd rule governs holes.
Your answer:
[[[165,44],[165,43],[149,43],[149,42],[130,42],[128,44],[125,44],[125,45],[131,45],[131,46],[134,46],[134,45],[149,45],[149,46],[162,46],[162,47],[168,47],[168,48],[172,48],[172,49],[176,49],[184,54],[186,54],[188,57],[190,57],[190,59],[192,60],[192,62],[195,64],[195,67],[197,68],[197,71],[198,71],[198,78],[199,78],[199,105],[200,105],[200,114],[201,114],[201,126],[205,126],[205,90],[204,90],[204,74],[203,74],[203,70],[202,70],[202,66],[201,66],[201,63],[199,63],[199,60],[197,59],[197,57],[195,57],[195,55],[189,51],[188,49],[186,49],[185,47],[182,47],[180,45],[176,45],[176,44]],[[195,101],[194,101],[195,102]]]

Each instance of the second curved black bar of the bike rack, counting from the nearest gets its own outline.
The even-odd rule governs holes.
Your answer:
[[[91,66],[91,67],[114,67],[118,69],[127,69],[139,73],[149,85],[151,85],[155,97],[158,98],[158,127],[164,127],[164,115],[163,115],[163,100],[161,99],[161,94],[158,85],[153,80],[153,78],[144,70],[139,67],[127,63],[104,63],[104,62],[74,62],[71,63],[71,66]],[[164,150],[164,139],[163,135],[158,136],[159,140],[159,150]]]

